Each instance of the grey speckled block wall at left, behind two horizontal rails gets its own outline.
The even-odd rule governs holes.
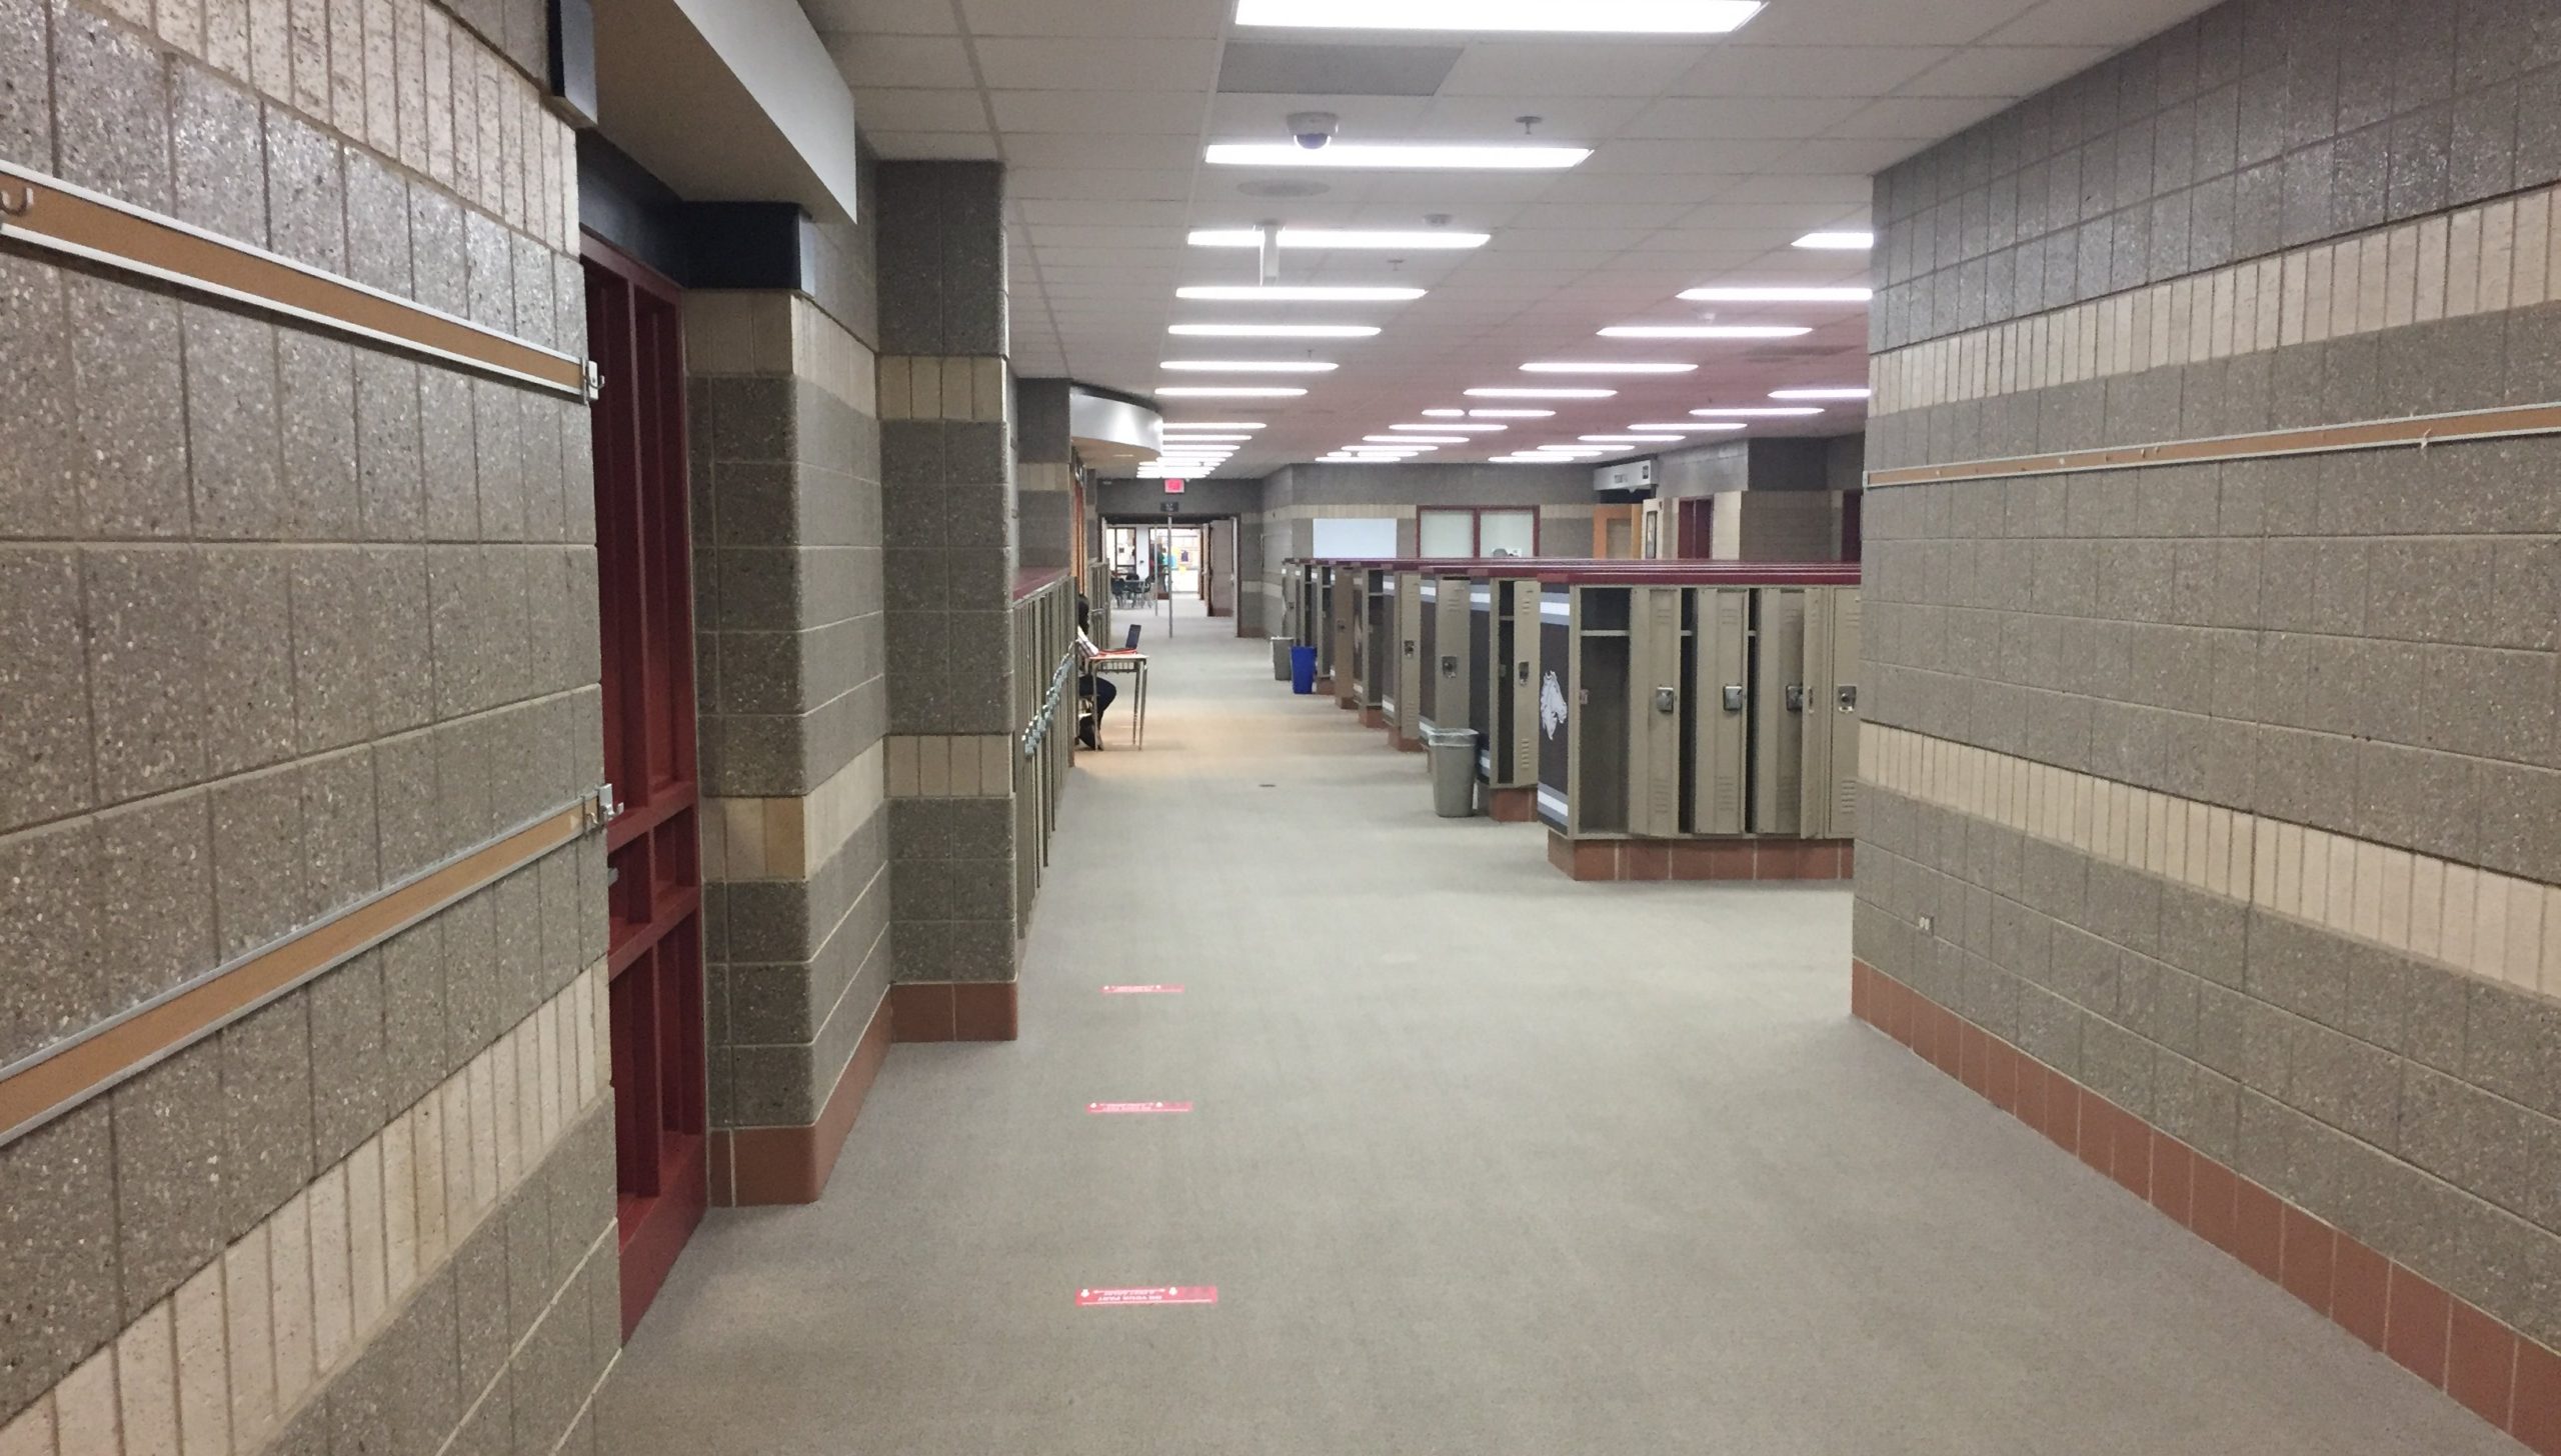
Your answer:
[[[543,5],[0,0],[0,156],[584,351]],[[0,246],[0,1062],[602,778],[584,404]],[[0,1146],[0,1448],[589,1451],[594,837]]]

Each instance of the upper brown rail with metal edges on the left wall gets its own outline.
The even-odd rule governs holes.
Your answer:
[[[353,279],[233,243],[41,171],[0,161],[0,238],[33,243],[110,269],[123,269],[243,302],[302,322],[389,343],[484,374],[586,397],[586,368],[551,348],[369,289]],[[20,205],[20,189],[26,192]]]

